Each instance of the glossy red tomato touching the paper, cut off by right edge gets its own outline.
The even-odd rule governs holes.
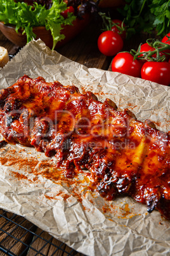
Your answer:
[[[168,62],[145,62],[141,68],[141,78],[161,85],[169,85],[170,64]]]

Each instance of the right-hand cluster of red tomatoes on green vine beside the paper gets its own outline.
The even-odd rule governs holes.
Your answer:
[[[140,45],[138,51],[119,52],[112,60],[112,71],[170,85],[170,33],[162,41]]]

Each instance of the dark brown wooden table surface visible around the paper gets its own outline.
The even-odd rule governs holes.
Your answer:
[[[65,57],[74,60],[76,62],[79,62],[80,64],[83,64],[87,66],[88,68],[100,68],[111,71],[111,62],[112,57],[106,57],[102,55],[97,47],[97,39],[98,35],[100,34],[100,24],[91,23],[86,27],[81,34],[76,36],[76,38],[72,39],[67,45],[62,46],[61,48],[58,48],[57,51],[64,55]],[[122,50],[130,50],[131,48],[134,48],[137,50],[138,45],[140,43],[144,43],[146,39],[148,38],[147,34],[138,34],[137,36],[133,36],[133,38],[126,40],[124,42],[124,48]],[[18,51],[18,46],[13,45],[8,39],[6,39],[3,34],[0,32],[0,46],[4,46],[7,48],[8,53],[11,55],[14,55]],[[15,67],[14,67],[15,68]],[[0,213],[3,210],[0,210]],[[13,215],[11,213],[6,213],[9,215],[8,217],[11,218]],[[18,222],[22,222],[22,227],[31,227],[36,234],[41,234],[41,229],[33,226],[32,224],[25,220],[23,217],[15,216],[15,219],[18,220]],[[18,223],[17,222],[17,223]],[[0,248],[3,246],[4,248],[8,249],[10,248],[11,252],[14,253],[14,255],[20,255],[23,250],[23,245],[18,245],[18,243],[14,243],[15,239],[8,236],[4,231],[10,233],[11,231],[15,230],[15,238],[20,239],[22,237],[22,241],[24,241],[25,244],[30,243],[32,241],[34,234],[25,234],[23,235],[23,229],[22,227],[17,227],[15,229],[16,224],[13,222],[9,222],[6,218],[0,217]],[[3,229],[3,231],[2,231]],[[8,236],[8,239],[7,239]],[[53,241],[55,245],[62,245],[62,243],[55,238],[52,238],[49,236],[47,232],[42,232],[41,237],[45,238],[46,240],[51,239],[50,241]],[[36,239],[34,243],[32,243],[32,246],[36,248],[36,250],[39,250],[42,247],[41,253],[44,255],[53,255],[54,249],[52,248],[50,244],[48,246],[44,246],[43,248],[44,240],[42,239]],[[12,245],[12,246],[11,246]],[[73,255],[81,255],[81,253],[77,253],[68,246],[64,245],[64,249],[67,252],[72,253]],[[5,255],[5,253],[1,252],[0,249],[0,255]],[[12,254],[9,254],[12,255]],[[34,250],[29,250],[24,255],[41,255],[36,254]],[[54,255],[68,255],[68,253],[58,251]]]

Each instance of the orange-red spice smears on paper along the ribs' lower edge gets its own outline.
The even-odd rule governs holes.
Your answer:
[[[48,194],[44,194],[44,197],[48,200],[56,200],[59,196],[62,197],[65,201],[70,197],[75,197],[78,203],[82,204],[82,209],[84,211],[91,211],[90,208],[83,205],[83,199],[91,194],[93,199],[89,199],[91,204],[95,204],[96,194],[93,193],[95,191],[95,186],[90,184],[90,180],[88,176],[84,175],[83,178],[74,179],[65,178],[63,176],[63,170],[57,169],[55,167],[55,161],[52,159],[47,160],[37,160],[36,157],[31,157],[29,152],[25,152],[25,149],[16,150],[15,148],[1,148],[0,149],[0,162],[3,166],[12,166],[16,171],[10,171],[11,176],[16,178],[18,181],[27,181],[29,183],[44,183],[44,181],[39,180],[39,176],[42,176],[48,180],[53,181],[56,184],[68,187],[70,193],[66,193],[63,191],[58,191],[57,193],[48,192]],[[29,157],[27,157],[29,155]],[[19,171],[18,171],[19,170]],[[22,170],[24,174],[21,173]],[[30,174],[34,174],[34,177],[30,177]],[[87,174],[88,175],[88,174]],[[105,217],[108,219],[110,215],[108,213],[117,214],[119,213],[120,218],[131,218],[136,214],[133,214],[132,210],[130,210],[128,204],[124,204],[122,207],[117,207],[116,204],[110,204],[110,202],[105,202],[103,206],[96,206],[99,208]],[[94,211],[94,209],[92,210]]]

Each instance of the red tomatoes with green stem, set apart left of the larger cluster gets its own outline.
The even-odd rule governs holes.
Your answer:
[[[114,56],[121,52],[126,38],[126,25],[122,20],[111,20],[105,13],[100,13],[103,18],[105,31],[98,37],[98,49],[106,56]]]

